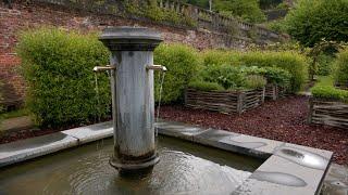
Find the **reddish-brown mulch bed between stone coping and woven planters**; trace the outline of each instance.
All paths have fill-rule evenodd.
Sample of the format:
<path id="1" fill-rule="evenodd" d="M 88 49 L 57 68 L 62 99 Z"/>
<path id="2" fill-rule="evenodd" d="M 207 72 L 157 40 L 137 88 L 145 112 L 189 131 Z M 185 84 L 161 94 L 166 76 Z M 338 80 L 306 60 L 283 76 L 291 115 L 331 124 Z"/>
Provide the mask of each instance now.
<path id="1" fill-rule="evenodd" d="M 348 164 L 348 130 L 308 125 L 308 105 L 306 96 L 289 96 L 239 116 L 163 106 L 161 118 L 333 151 L 335 162 Z"/>

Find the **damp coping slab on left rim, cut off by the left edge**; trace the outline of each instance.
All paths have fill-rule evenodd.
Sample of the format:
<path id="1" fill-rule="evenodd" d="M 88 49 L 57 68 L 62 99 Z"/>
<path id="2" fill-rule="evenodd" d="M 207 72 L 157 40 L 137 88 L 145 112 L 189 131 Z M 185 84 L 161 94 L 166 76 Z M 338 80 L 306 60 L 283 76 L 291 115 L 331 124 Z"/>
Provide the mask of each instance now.
<path id="1" fill-rule="evenodd" d="M 58 132 L 0 145 L 0 167 L 76 146 L 77 139 Z"/>

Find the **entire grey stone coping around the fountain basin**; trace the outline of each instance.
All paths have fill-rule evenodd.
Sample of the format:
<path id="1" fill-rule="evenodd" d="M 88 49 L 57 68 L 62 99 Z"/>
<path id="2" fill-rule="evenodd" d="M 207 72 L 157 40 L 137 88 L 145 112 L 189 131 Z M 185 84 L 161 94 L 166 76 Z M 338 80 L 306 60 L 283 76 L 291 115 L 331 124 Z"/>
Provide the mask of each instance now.
<path id="1" fill-rule="evenodd" d="M 181 122 L 156 123 L 160 134 L 175 136 L 265 161 L 232 194 L 319 194 L 333 153 Z M 112 122 L 75 128 L 0 145 L 0 167 L 113 135 Z"/>

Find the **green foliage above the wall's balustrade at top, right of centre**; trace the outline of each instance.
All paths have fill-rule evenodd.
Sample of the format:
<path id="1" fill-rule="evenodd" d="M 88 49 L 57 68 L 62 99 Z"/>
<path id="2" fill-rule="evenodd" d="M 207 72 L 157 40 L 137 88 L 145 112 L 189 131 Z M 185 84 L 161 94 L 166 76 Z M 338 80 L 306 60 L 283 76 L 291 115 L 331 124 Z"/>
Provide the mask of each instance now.
<path id="1" fill-rule="evenodd" d="M 261 11 L 258 0 L 214 0 L 213 9 L 250 23 L 265 21 L 265 15 Z"/>

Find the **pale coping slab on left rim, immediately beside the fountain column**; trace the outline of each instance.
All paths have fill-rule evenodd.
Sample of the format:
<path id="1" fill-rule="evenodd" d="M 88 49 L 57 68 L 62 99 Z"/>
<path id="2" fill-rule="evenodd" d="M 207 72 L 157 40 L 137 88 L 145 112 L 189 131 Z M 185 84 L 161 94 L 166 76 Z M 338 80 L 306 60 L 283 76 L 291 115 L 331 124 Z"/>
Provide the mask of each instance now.
<path id="1" fill-rule="evenodd" d="M 112 121 L 70 129 L 62 133 L 74 136 L 78 140 L 78 144 L 94 142 L 100 139 L 113 136 Z"/>

